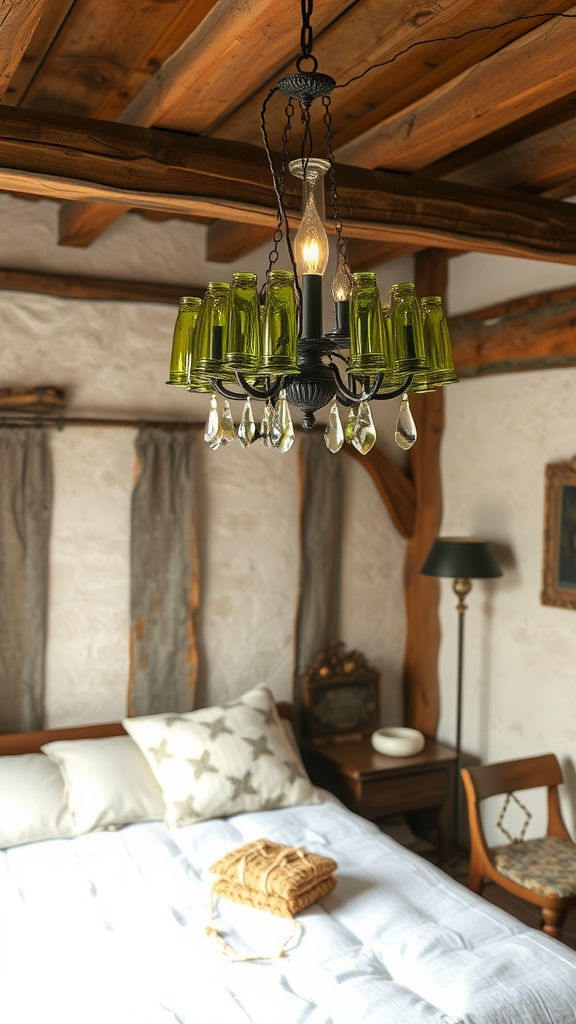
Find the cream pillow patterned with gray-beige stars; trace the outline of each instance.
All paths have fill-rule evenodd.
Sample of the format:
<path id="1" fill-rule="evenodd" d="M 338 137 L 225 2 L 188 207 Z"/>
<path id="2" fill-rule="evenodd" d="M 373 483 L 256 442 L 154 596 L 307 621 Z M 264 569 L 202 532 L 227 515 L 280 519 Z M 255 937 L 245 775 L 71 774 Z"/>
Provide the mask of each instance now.
<path id="1" fill-rule="evenodd" d="M 321 802 L 265 686 L 213 708 L 122 724 L 162 790 L 168 826 Z"/>

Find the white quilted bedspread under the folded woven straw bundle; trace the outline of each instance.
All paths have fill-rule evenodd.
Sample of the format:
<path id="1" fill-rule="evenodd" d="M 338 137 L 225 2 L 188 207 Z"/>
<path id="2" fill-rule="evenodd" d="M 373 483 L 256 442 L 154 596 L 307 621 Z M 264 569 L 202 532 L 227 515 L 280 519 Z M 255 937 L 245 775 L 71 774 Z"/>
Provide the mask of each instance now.
<path id="1" fill-rule="evenodd" d="M 279 959 L 231 961 L 208 867 L 251 839 L 325 852 L 334 892 Z M 225 900 L 241 954 L 290 923 Z M 332 798 L 168 834 L 129 825 L 0 853 L 2 1024 L 575 1024 L 576 954 Z"/>

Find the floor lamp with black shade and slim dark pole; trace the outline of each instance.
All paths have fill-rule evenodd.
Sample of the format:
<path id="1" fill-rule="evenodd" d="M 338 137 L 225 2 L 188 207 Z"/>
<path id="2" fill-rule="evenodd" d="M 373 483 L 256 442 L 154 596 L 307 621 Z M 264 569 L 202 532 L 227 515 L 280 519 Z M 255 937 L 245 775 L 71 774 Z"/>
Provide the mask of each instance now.
<path id="1" fill-rule="evenodd" d="M 488 541 L 476 537 L 439 537 L 422 565 L 422 575 L 451 577 L 452 589 L 458 598 L 458 675 L 456 689 L 456 777 L 454 779 L 454 848 L 458 849 L 460 816 L 460 768 L 462 726 L 462 670 L 464 654 L 465 598 L 472 580 L 489 580 L 502 575 L 496 555 Z"/>

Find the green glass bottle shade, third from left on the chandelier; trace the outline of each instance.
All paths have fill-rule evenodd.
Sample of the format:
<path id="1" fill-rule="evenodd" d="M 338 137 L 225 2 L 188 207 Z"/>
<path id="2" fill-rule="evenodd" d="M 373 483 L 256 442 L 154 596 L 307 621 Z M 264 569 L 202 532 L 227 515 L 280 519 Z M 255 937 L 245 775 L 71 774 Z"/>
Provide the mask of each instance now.
<path id="1" fill-rule="evenodd" d="M 262 361 L 260 308 L 255 273 L 232 279 L 224 362 L 242 374 L 257 374 Z"/>

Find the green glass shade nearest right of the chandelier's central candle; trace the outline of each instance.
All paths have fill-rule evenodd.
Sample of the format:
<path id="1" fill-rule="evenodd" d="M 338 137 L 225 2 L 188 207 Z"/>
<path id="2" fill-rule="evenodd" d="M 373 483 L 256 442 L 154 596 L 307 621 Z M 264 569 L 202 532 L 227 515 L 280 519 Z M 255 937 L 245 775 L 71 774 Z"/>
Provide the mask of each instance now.
<path id="1" fill-rule="evenodd" d="M 367 270 L 352 275 L 349 337 L 351 373 L 378 374 L 389 368 L 376 274 Z"/>

